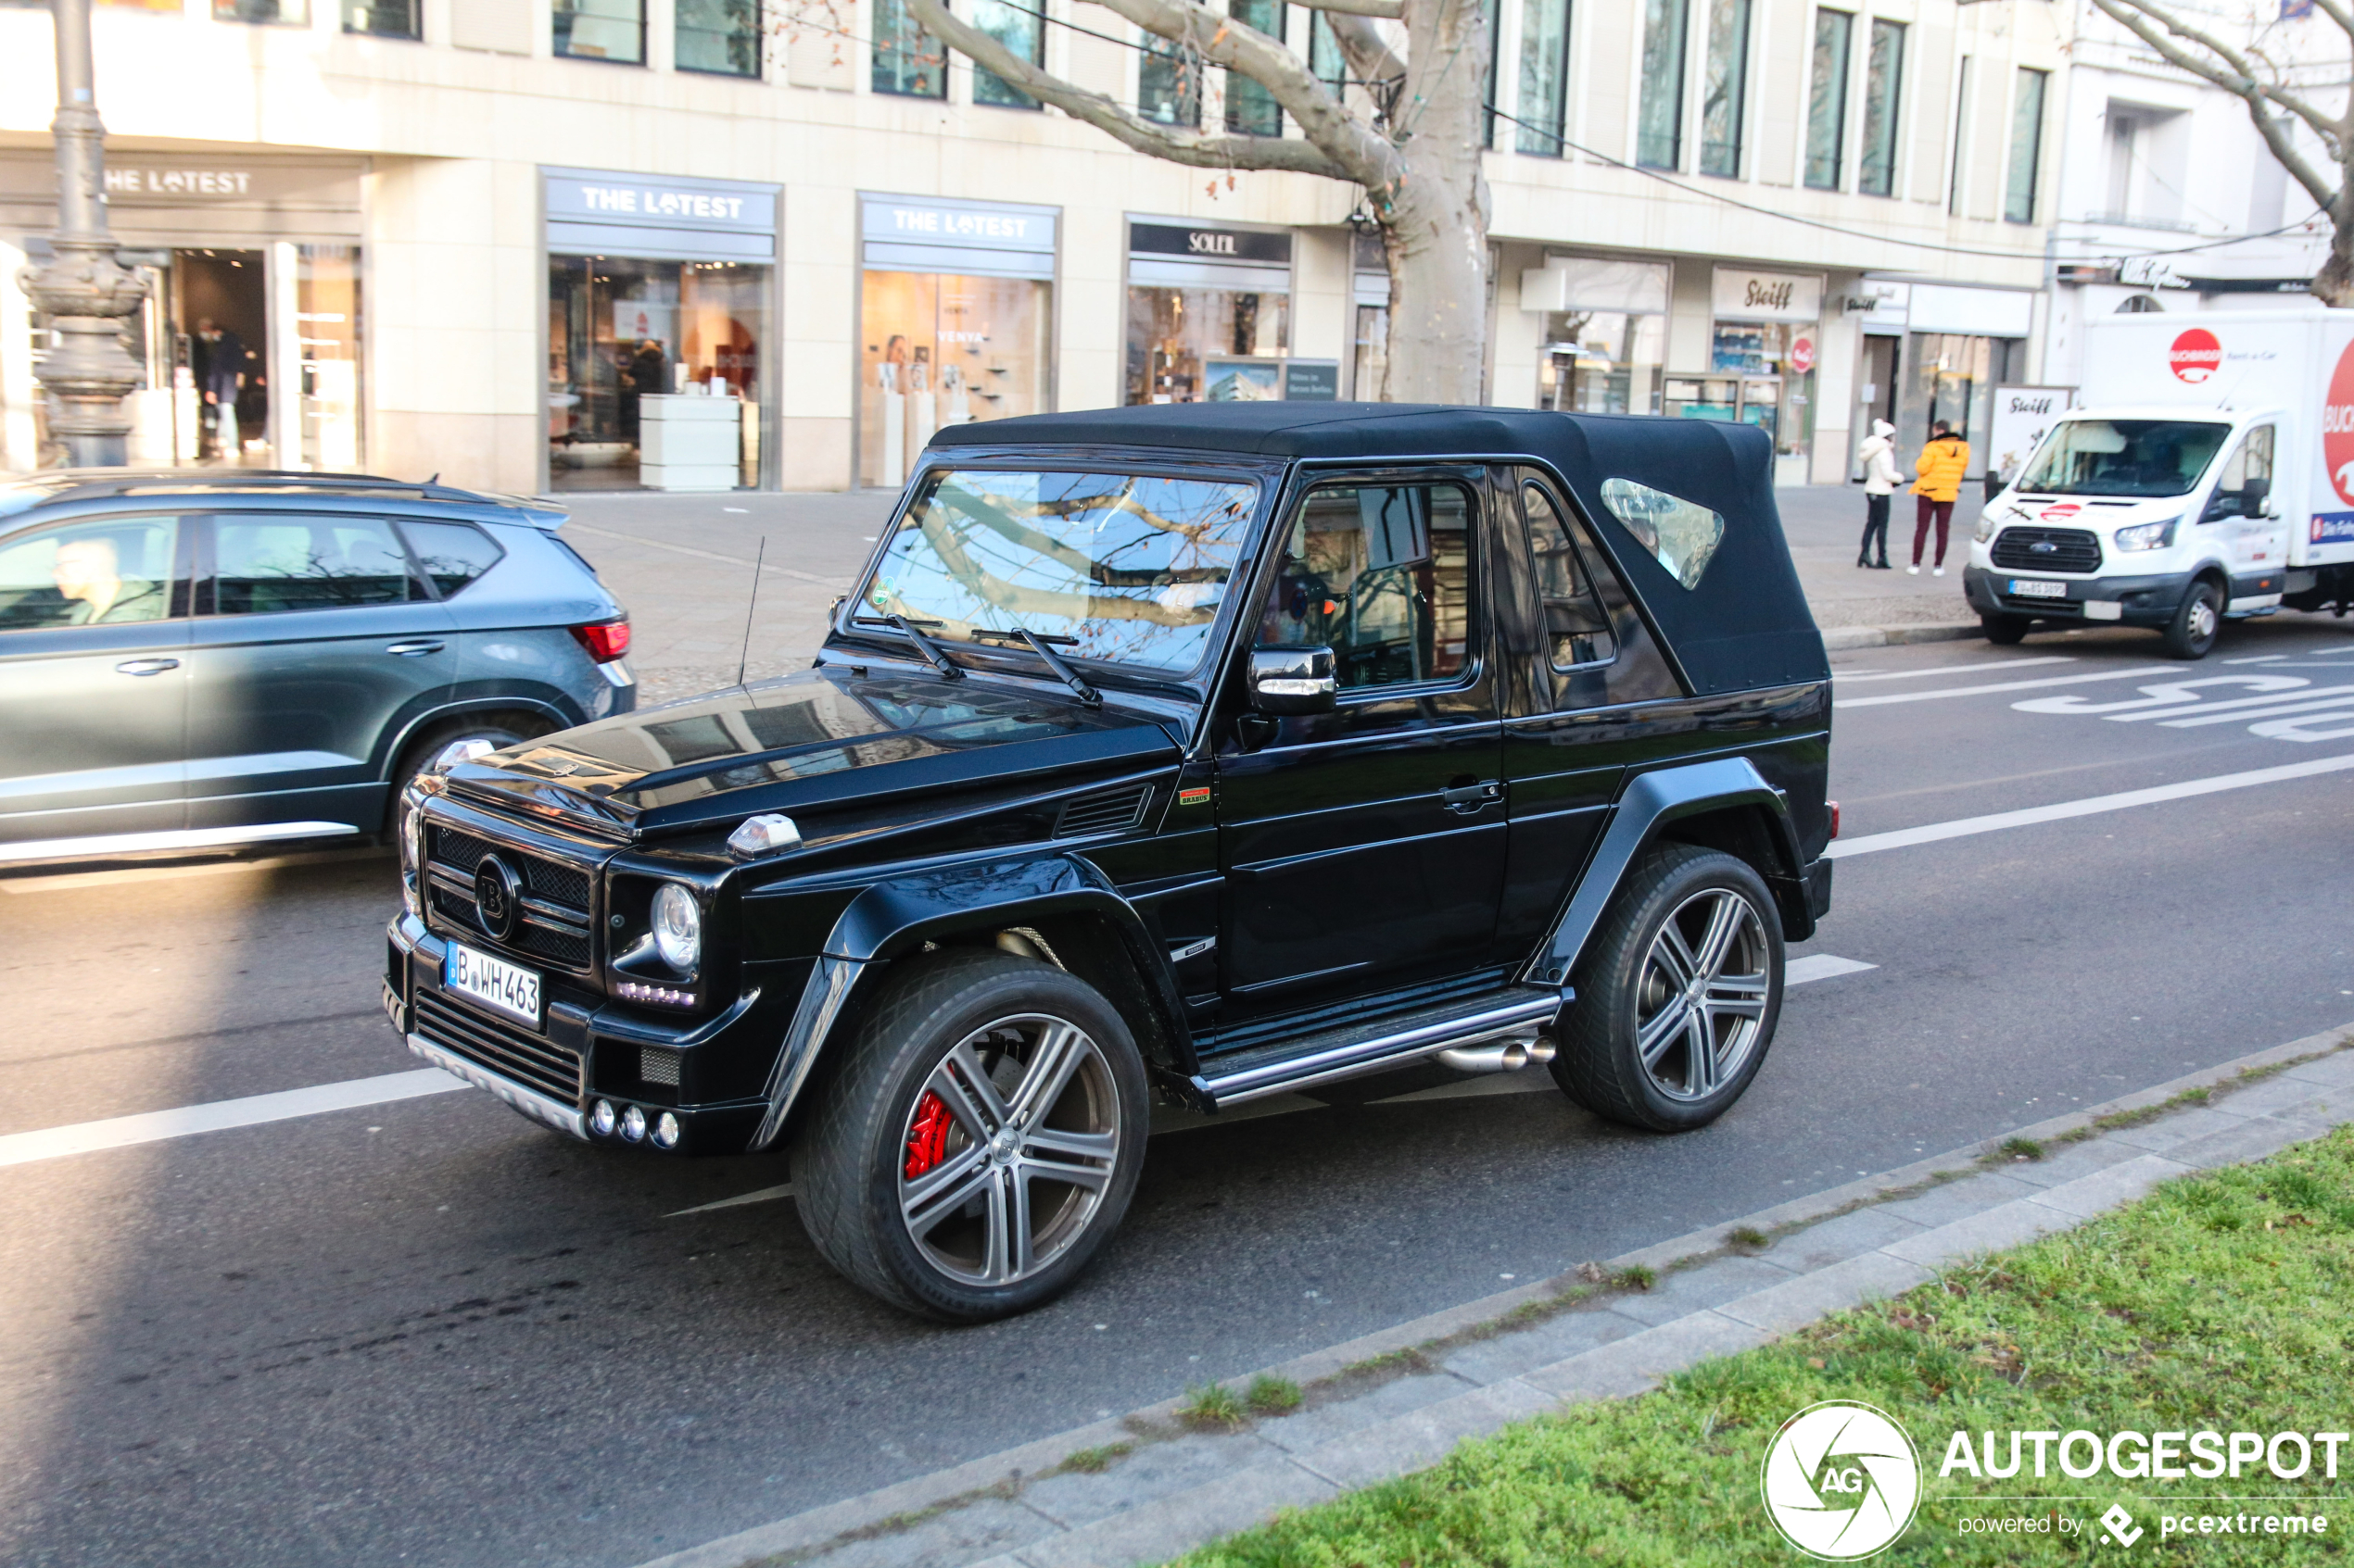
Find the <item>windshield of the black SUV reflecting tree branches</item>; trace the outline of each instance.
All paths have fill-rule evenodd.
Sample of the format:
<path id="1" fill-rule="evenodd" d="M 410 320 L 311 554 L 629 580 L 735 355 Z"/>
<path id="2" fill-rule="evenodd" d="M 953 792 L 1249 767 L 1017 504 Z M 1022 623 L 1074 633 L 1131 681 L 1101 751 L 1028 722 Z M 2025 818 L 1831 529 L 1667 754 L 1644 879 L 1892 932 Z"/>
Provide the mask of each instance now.
<path id="1" fill-rule="evenodd" d="M 986 632 L 1026 628 L 1066 658 L 1191 670 L 1257 498 L 1248 480 L 937 473 L 857 614 L 906 616 L 935 642 L 1008 646 Z"/>

